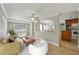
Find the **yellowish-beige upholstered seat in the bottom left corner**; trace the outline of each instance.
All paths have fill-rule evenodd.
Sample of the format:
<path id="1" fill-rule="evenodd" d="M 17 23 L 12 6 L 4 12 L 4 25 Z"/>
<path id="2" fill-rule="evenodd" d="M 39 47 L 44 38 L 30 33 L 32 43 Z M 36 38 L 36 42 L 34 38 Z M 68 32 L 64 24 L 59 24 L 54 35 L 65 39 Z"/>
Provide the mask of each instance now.
<path id="1" fill-rule="evenodd" d="M 19 42 L 12 42 L 2 44 L 0 43 L 0 55 L 17 55 L 20 53 L 20 43 Z"/>

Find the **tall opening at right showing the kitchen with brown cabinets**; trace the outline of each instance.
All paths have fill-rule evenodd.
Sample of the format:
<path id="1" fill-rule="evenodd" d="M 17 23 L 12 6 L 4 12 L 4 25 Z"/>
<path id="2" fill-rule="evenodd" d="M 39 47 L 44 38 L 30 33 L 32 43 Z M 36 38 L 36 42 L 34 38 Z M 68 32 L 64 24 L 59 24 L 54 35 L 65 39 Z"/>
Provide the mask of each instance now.
<path id="1" fill-rule="evenodd" d="M 76 15 L 76 16 L 74 16 Z M 61 39 L 60 46 L 68 49 L 78 49 L 78 11 L 61 13 L 60 28 Z"/>

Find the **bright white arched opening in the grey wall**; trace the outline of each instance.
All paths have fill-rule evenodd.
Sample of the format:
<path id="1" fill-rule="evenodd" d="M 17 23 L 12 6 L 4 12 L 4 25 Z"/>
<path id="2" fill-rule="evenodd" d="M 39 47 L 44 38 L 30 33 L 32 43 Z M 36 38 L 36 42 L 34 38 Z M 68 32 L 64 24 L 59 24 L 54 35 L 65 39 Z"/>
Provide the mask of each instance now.
<path id="1" fill-rule="evenodd" d="M 55 23 L 49 20 L 43 20 L 36 24 L 37 31 L 54 31 Z"/>

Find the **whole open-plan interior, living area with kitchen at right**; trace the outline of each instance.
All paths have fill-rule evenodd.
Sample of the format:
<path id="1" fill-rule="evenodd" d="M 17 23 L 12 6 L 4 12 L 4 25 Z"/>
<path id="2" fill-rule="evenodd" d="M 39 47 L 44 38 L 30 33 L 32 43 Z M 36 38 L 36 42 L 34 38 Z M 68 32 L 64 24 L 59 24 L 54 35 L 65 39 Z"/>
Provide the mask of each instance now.
<path id="1" fill-rule="evenodd" d="M 0 3 L 0 55 L 79 55 L 79 3 Z"/>

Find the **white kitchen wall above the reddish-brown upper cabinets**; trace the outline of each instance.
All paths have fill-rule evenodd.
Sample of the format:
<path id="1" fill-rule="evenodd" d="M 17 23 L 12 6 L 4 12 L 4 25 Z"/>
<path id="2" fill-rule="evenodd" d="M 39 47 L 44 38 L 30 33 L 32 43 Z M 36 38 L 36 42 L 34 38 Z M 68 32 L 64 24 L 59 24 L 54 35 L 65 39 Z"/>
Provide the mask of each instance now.
<path id="1" fill-rule="evenodd" d="M 61 13 L 60 15 L 60 23 L 65 23 L 67 19 L 78 18 L 78 11 Z"/>

